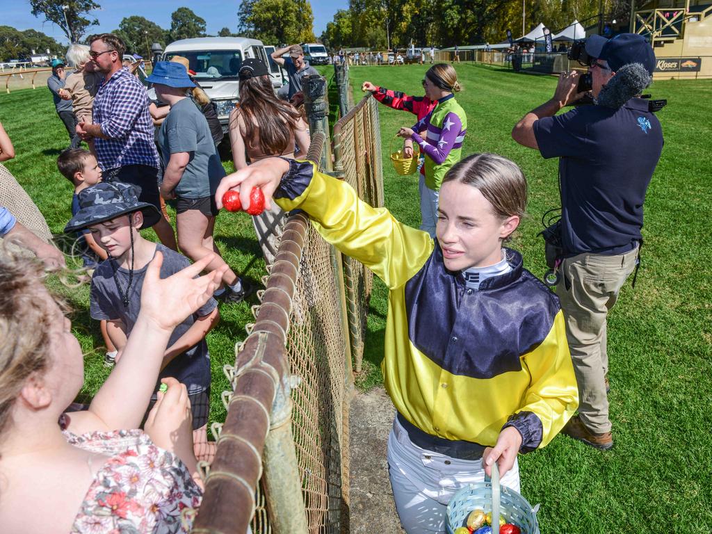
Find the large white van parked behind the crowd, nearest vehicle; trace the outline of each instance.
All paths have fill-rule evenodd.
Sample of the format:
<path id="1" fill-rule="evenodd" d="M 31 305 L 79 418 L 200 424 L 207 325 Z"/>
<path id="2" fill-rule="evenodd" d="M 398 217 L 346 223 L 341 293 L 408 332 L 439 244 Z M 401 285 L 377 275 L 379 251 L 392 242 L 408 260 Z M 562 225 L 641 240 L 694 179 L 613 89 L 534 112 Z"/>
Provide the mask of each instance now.
<path id="1" fill-rule="evenodd" d="M 230 111 L 239 101 L 238 72 L 247 58 L 261 59 L 268 64 L 262 41 L 245 37 L 199 37 L 170 43 L 163 61 L 173 56 L 188 59 L 195 79 L 215 103 L 220 124 L 227 132 Z"/>

